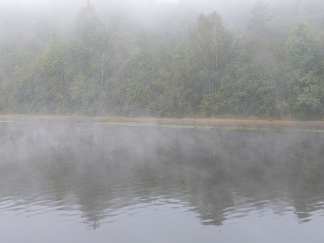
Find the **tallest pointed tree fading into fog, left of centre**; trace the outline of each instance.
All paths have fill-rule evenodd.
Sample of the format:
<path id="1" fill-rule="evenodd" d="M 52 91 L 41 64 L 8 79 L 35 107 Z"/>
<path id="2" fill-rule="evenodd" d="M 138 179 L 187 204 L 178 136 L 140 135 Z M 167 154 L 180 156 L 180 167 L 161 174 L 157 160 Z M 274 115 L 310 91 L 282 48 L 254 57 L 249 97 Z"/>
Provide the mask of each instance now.
<path id="1" fill-rule="evenodd" d="M 110 41 L 105 26 L 90 2 L 79 10 L 71 41 L 71 99 L 74 112 L 96 114 L 106 87 Z"/>

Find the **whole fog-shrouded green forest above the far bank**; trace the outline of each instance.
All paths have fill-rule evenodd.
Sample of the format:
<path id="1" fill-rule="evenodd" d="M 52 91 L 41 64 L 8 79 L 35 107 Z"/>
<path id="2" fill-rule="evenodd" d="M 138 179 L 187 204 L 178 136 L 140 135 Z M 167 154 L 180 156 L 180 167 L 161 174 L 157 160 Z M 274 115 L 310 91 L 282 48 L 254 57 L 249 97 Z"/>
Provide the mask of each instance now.
<path id="1" fill-rule="evenodd" d="M 137 2 L 0 2 L 0 113 L 323 119 L 324 1 Z"/>

